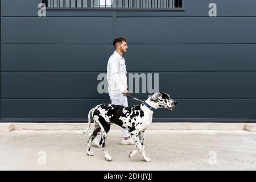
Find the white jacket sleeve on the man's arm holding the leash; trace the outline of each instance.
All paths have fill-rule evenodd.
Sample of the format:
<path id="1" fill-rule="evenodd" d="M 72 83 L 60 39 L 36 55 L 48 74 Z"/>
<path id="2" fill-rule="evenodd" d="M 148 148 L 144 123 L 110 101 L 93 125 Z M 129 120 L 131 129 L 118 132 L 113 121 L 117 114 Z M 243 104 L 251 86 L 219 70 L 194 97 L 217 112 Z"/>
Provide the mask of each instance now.
<path id="1" fill-rule="evenodd" d="M 121 85 L 121 78 L 118 75 L 119 72 L 119 61 L 118 59 L 115 59 L 114 57 L 112 57 L 110 59 L 110 82 L 112 82 L 112 84 L 114 84 L 117 89 L 119 90 L 119 92 L 123 92 L 126 90 L 125 86 Z"/>

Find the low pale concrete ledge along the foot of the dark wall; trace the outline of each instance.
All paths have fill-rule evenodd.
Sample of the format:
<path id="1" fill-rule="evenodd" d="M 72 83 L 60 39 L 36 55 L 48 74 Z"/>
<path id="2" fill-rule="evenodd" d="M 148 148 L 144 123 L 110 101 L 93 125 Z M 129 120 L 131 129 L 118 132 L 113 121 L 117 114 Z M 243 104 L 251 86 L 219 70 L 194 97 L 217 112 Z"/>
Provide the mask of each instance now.
<path id="1" fill-rule="evenodd" d="M 88 123 L 0 123 L 0 132 L 13 130 L 85 130 Z M 91 123 L 90 129 L 94 128 Z M 113 124 L 110 130 L 121 130 Z M 203 123 L 203 122 L 157 122 L 151 123 L 148 130 L 246 130 L 256 132 L 256 123 Z"/>

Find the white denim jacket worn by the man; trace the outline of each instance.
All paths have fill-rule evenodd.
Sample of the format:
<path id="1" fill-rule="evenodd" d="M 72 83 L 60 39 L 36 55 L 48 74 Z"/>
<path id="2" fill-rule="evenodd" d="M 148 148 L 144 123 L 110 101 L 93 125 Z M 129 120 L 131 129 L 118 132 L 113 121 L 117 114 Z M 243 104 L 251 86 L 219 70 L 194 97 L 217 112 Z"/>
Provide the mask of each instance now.
<path id="1" fill-rule="evenodd" d="M 125 59 L 114 51 L 109 57 L 107 67 L 108 90 L 123 92 L 128 88 Z"/>

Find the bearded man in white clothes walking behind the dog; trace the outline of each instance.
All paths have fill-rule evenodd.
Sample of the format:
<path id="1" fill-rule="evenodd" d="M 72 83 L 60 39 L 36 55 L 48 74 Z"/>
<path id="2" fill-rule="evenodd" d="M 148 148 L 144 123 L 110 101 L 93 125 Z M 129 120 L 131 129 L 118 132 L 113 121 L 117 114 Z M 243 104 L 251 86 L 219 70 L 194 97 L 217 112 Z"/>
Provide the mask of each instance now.
<path id="1" fill-rule="evenodd" d="M 125 38 L 114 39 L 113 46 L 115 51 L 113 55 L 109 57 L 107 66 L 107 80 L 108 80 L 108 91 L 111 104 L 128 106 L 126 94 L 129 93 L 127 90 L 127 72 L 125 59 L 122 57 L 127 51 L 127 43 Z M 134 144 L 130 134 L 127 130 L 122 129 L 123 138 L 121 144 Z M 100 146 L 101 134 L 94 139 L 94 144 Z"/>

